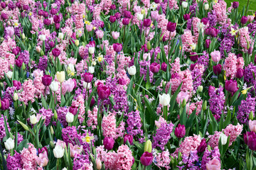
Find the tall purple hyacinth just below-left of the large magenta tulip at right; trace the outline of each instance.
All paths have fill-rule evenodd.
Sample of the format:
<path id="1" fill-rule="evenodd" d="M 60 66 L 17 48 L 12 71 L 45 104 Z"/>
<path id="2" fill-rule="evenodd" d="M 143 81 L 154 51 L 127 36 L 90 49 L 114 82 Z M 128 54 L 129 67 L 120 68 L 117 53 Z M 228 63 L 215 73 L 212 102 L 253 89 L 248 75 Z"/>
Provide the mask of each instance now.
<path id="1" fill-rule="evenodd" d="M 210 111 L 212 111 L 213 116 L 216 120 L 220 118 L 222 111 L 224 109 L 225 103 L 225 94 L 223 92 L 223 87 L 219 87 L 215 89 L 213 93 L 210 94 L 209 104 L 210 104 Z"/>

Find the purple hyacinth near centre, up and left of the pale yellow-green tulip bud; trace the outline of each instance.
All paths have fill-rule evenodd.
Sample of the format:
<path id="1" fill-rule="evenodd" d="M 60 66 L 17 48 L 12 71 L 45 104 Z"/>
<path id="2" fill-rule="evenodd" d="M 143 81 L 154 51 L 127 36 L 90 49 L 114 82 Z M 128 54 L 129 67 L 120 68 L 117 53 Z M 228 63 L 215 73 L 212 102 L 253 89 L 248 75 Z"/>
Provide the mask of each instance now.
<path id="1" fill-rule="evenodd" d="M 143 130 L 142 128 L 142 123 L 141 123 L 141 118 L 139 115 L 139 111 L 132 111 L 131 113 L 128 113 L 127 115 L 127 132 L 129 135 L 136 136 L 140 135 L 141 137 L 139 138 L 139 142 L 144 141 L 144 135 L 143 135 Z"/>

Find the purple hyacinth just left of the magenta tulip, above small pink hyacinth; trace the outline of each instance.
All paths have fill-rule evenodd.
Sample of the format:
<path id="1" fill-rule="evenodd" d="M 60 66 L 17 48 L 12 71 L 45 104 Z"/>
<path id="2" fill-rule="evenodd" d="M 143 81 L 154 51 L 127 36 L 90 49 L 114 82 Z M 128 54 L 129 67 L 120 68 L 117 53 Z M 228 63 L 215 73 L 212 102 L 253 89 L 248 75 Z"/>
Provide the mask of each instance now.
<path id="1" fill-rule="evenodd" d="M 167 144 L 169 139 L 171 138 L 171 132 L 174 128 L 174 124 L 172 123 L 163 123 L 161 127 L 156 130 L 156 135 L 153 137 L 153 147 L 160 147 L 161 150 L 164 150 L 164 146 Z"/>

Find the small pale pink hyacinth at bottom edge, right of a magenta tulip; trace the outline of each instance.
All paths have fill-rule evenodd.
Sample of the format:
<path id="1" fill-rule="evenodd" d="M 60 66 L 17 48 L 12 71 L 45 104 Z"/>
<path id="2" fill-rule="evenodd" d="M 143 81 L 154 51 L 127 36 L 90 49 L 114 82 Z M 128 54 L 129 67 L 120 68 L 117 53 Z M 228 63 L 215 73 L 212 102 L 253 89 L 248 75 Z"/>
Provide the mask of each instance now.
<path id="1" fill-rule="evenodd" d="M 156 162 L 154 162 L 154 164 L 161 168 L 164 169 L 171 169 L 171 167 L 169 166 L 171 159 L 170 159 L 170 153 L 169 151 L 163 151 L 161 153 L 157 153 L 155 156 L 155 160 Z"/>

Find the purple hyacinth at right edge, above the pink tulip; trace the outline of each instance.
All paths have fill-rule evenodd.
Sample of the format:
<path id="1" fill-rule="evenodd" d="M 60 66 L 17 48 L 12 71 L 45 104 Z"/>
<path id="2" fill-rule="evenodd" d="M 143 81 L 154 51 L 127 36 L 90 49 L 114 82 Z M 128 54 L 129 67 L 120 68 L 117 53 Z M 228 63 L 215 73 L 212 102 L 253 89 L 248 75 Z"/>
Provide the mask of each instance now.
<path id="1" fill-rule="evenodd" d="M 238 120 L 242 124 L 247 124 L 249 120 L 250 112 L 252 111 L 253 116 L 255 115 L 255 98 L 250 95 L 247 96 L 246 101 L 242 100 L 241 105 L 238 106 Z"/>

